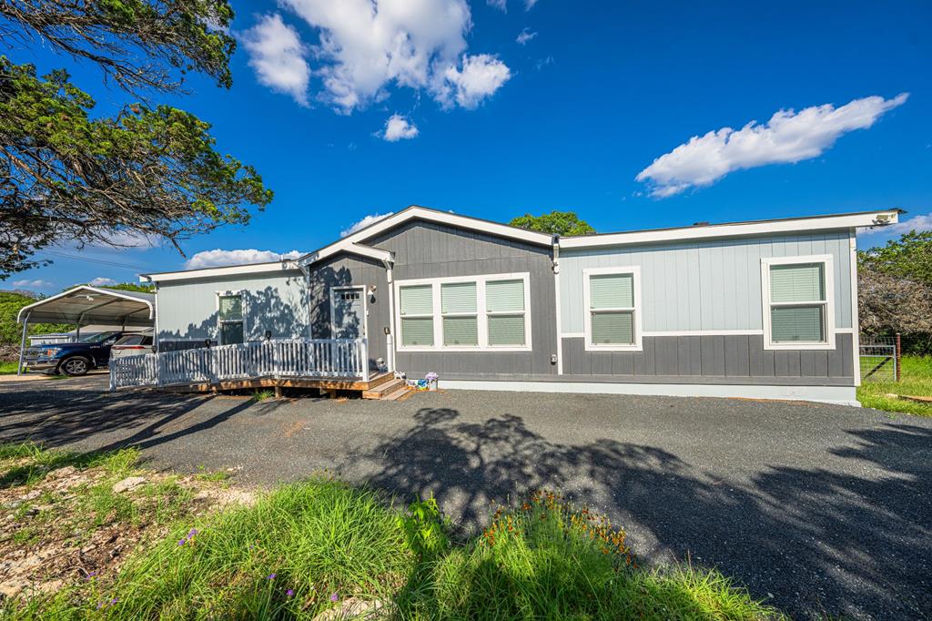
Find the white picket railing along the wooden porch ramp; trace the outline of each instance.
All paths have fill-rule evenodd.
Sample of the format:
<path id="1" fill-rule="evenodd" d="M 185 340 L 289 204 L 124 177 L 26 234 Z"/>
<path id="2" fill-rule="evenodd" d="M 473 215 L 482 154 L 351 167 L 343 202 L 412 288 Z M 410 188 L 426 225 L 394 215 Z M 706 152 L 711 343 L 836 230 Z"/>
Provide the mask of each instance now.
<path id="1" fill-rule="evenodd" d="M 365 338 L 265 340 L 110 359 L 110 390 L 229 380 L 349 378 L 369 380 Z"/>

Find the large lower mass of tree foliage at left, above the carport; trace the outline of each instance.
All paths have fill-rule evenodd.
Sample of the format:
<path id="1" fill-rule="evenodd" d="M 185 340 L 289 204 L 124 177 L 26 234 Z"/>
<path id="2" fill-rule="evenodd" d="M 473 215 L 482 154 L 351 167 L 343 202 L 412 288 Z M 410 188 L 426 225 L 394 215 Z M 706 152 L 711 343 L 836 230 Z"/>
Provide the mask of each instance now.
<path id="1" fill-rule="evenodd" d="M 249 221 L 272 198 L 250 166 L 214 150 L 210 125 L 170 105 L 91 117 L 65 71 L 0 57 L 0 278 L 62 240 L 136 232 L 177 245 Z"/>

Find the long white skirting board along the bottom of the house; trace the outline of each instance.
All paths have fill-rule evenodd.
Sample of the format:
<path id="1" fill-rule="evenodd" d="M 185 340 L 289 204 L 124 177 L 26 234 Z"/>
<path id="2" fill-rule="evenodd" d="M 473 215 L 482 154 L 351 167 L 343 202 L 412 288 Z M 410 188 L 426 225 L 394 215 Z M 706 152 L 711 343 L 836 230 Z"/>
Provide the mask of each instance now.
<path id="1" fill-rule="evenodd" d="M 852 386 L 757 386 L 724 384 L 624 384 L 584 381 L 444 380 L 444 390 L 506 391 L 513 393 L 637 394 L 644 396 L 719 397 L 815 401 L 860 407 Z"/>

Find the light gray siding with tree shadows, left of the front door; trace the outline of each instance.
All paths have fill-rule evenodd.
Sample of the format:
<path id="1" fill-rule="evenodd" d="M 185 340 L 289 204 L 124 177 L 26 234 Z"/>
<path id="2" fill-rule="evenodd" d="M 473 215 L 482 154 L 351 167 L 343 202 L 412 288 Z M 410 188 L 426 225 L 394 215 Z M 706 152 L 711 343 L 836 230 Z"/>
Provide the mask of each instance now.
<path id="1" fill-rule="evenodd" d="M 160 283 L 156 294 L 161 351 L 217 340 L 217 292 L 241 291 L 246 340 L 307 338 L 308 289 L 298 271 Z"/>

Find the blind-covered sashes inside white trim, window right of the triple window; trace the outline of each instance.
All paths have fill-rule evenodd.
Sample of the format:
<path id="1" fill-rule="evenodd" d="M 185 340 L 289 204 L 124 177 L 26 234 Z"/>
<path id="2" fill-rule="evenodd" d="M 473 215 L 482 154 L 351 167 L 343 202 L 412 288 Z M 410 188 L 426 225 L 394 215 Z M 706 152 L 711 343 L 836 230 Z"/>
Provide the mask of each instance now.
<path id="1" fill-rule="evenodd" d="M 635 344 L 633 273 L 589 274 L 589 344 Z"/>

